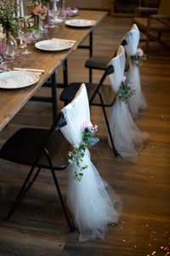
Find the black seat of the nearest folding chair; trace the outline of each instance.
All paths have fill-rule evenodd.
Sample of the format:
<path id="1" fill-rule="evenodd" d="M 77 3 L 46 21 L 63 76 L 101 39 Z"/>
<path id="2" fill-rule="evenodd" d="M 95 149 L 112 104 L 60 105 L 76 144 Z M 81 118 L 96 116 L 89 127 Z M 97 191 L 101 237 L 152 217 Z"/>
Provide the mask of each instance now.
<path id="1" fill-rule="evenodd" d="M 32 166 L 37 154 L 42 148 L 44 139 L 49 130 L 36 128 L 22 128 L 4 143 L 0 149 L 0 157 L 26 166 Z M 63 170 L 68 166 L 68 152 L 70 144 L 65 140 L 60 131 L 56 131 L 47 144 L 48 152 L 54 165 L 54 170 Z M 49 168 L 47 157 L 44 153 L 36 166 Z"/>

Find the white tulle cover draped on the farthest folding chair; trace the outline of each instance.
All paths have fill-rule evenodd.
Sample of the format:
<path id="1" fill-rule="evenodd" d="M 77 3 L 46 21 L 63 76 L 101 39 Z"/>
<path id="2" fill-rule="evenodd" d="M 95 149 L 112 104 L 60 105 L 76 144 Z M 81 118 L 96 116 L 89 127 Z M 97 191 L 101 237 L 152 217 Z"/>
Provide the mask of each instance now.
<path id="1" fill-rule="evenodd" d="M 138 26 L 133 24 L 130 31 L 125 36 L 127 44 L 124 46 L 126 49 L 127 60 L 129 61 L 129 68 L 126 76 L 129 82 L 133 82 L 133 89 L 136 90 L 135 96 L 129 100 L 129 110 L 133 118 L 137 118 L 139 115 L 139 109 L 147 108 L 147 103 L 141 90 L 139 67 L 133 65 L 131 56 L 136 55 L 136 51 L 139 46 L 140 32 Z"/>

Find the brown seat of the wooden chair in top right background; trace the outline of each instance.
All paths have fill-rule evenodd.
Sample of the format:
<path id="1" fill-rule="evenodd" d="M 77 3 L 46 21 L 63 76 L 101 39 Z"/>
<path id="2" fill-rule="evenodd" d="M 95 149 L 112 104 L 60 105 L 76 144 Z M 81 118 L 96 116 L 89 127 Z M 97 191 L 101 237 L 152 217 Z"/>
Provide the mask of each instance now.
<path id="1" fill-rule="evenodd" d="M 138 24 L 139 29 L 143 32 L 145 32 L 146 27 L 147 27 L 147 18 L 140 18 L 140 17 L 135 17 L 133 19 L 133 22 Z M 158 20 L 152 20 L 150 24 L 150 31 L 152 32 L 168 32 L 170 31 L 170 26 L 166 26 L 161 21 Z"/>

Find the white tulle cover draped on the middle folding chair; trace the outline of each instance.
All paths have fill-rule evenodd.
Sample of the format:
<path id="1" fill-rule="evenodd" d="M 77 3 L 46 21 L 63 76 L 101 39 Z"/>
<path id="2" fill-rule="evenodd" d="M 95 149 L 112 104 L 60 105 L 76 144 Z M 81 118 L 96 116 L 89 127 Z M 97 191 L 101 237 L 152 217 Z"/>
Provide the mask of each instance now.
<path id="1" fill-rule="evenodd" d="M 125 50 L 122 45 L 119 46 L 116 57 L 110 61 L 109 65 L 114 67 L 114 73 L 111 73 L 109 78 L 112 89 L 117 93 L 122 83 L 125 67 Z M 125 102 L 120 102 L 118 96 L 109 112 L 108 119 L 116 151 L 123 158 L 137 162 L 139 152 L 142 150 L 143 143 L 149 137 L 149 134 L 139 131 L 137 125 L 133 123 L 128 105 Z M 111 146 L 110 137 L 108 139 Z"/>

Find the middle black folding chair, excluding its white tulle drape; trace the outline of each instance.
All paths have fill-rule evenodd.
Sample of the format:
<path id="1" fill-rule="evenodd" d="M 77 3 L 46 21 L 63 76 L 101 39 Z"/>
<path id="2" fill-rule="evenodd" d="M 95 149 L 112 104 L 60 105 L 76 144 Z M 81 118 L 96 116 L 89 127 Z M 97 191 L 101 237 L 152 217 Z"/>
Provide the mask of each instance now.
<path id="1" fill-rule="evenodd" d="M 107 119 L 107 114 L 105 112 L 105 108 L 111 108 L 111 106 L 113 106 L 116 97 L 115 97 L 115 94 L 113 93 L 113 90 L 111 89 L 111 85 L 103 84 L 105 81 L 105 78 L 111 73 L 114 73 L 114 67 L 112 65 L 108 66 L 105 69 L 105 73 L 100 79 L 99 84 L 86 84 L 86 87 L 88 90 L 89 105 L 101 107 L 103 110 L 107 130 L 111 138 L 111 147 L 113 149 L 113 153 L 116 156 L 117 153 L 113 143 L 113 138 L 111 136 L 111 129 Z M 71 102 L 74 96 L 76 95 L 77 90 L 80 88 L 81 84 L 82 83 L 68 84 L 65 87 L 65 89 L 61 92 L 60 101 L 65 102 L 65 105 Z"/>

